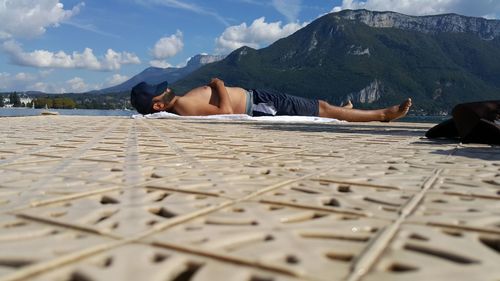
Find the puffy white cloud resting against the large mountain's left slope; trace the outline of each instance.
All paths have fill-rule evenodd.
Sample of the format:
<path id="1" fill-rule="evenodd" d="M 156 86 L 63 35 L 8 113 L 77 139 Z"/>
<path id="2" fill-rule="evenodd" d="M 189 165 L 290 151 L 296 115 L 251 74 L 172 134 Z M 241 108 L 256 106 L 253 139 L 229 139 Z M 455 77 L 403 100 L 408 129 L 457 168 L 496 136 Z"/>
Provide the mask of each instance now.
<path id="1" fill-rule="evenodd" d="M 286 37 L 306 25 L 307 23 L 289 23 L 282 26 L 281 21 L 267 23 L 266 19 L 261 17 L 254 20 L 250 26 L 242 23 L 226 28 L 215 40 L 216 51 L 224 53 L 242 46 L 259 48 Z"/>

